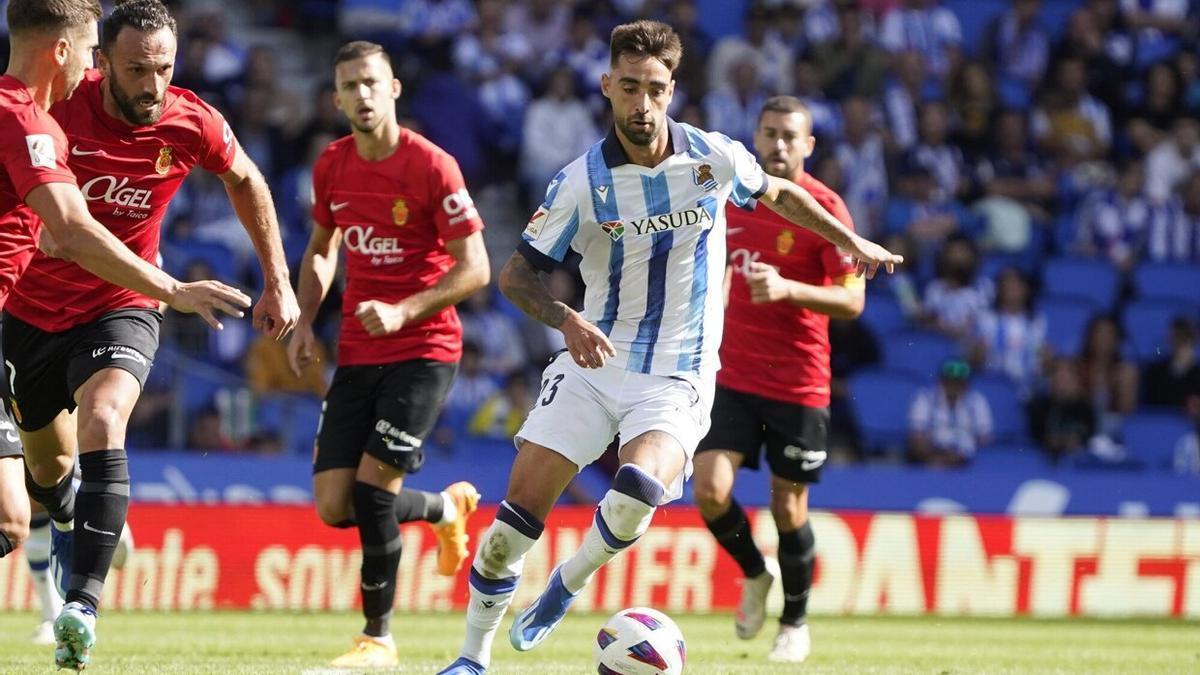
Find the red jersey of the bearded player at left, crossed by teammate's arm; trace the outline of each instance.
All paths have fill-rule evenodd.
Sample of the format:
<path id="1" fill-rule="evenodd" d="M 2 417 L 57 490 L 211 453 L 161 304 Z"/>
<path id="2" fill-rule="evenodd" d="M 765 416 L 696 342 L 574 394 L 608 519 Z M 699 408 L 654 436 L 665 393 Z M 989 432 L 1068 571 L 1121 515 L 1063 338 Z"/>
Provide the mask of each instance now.
<path id="1" fill-rule="evenodd" d="M 50 108 L 71 142 L 67 161 L 92 217 L 136 255 L 154 263 L 167 204 L 199 165 L 233 166 L 238 142 L 216 109 L 196 94 L 167 89 L 162 118 L 130 126 L 104 112 L 100 71 Z M 82 267 L 38 252 L 8 303 L 25 323 L 58 333 L 119 309 L 157 307 L 148 295 L 114 286 Z"/>

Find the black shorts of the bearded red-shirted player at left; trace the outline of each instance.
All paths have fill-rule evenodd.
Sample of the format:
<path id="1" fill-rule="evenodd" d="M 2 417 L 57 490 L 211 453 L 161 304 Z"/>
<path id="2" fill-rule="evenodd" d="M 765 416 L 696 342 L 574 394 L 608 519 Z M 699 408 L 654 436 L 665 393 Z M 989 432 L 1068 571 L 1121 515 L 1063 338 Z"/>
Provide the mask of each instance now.
<path id="1" fill-rule="evenodd" d="M 144 386 L 158 351 L 162 315 L 156 310 L 118 310 L 91 323 L 47 333 L 6 313 L 5 380 L 17 425 L 37 431 L 61 411 L 73 412 L 74 393 L 106 368 L 128 371 Z"/>

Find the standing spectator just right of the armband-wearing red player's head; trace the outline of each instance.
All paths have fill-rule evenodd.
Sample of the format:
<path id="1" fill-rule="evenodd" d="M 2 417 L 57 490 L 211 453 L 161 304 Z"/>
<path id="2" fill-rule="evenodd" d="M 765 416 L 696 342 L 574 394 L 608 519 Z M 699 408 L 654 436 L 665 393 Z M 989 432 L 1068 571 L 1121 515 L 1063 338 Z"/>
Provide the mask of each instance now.
<path id="1" fill-rule="evenodd" d="M 841 104 L 842 141 L 833 149 L 845 187 L 840 192 L 854 228 L 869 239 L 880 231 L 888 201 L 888 168 L 883 136 L 876 130 L 870 101 L 857 96 Z"/>

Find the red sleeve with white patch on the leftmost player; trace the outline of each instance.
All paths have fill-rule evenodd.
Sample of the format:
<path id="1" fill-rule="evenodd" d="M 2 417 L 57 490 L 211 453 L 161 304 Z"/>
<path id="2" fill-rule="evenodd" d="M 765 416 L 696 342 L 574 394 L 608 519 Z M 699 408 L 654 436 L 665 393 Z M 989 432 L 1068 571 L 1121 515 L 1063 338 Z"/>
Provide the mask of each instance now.
<path id="1" fill-rule="evenodd" d="M 74 184 L 67 138 L 49 113 L 29 106 L 0 119 L 0 162 L 22 199 L 38 185 Z"/>

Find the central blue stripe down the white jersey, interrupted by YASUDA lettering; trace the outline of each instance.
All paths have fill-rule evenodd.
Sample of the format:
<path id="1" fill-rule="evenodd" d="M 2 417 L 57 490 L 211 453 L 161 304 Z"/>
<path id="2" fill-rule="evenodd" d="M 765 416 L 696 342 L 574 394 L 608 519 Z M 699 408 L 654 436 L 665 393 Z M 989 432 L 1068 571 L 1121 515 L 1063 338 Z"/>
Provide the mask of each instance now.
<path id="1" fill-rule="evenodd" d="M 671 213 L 671 186 L 665 172 L 642 177 L 642 196 L 646 198 L 646 215 L 658 216 Z M 667 263 L 674 246 L 674 232 L 655 232 L 650 246 L 648 283 L 646 289 L 646 315 L 637 324 L 637 338 L 629 353 L 629 369 L 649 372 L 654 363 L 654 346 L 662 328 L 662 311 L 667 299 Z"/>

